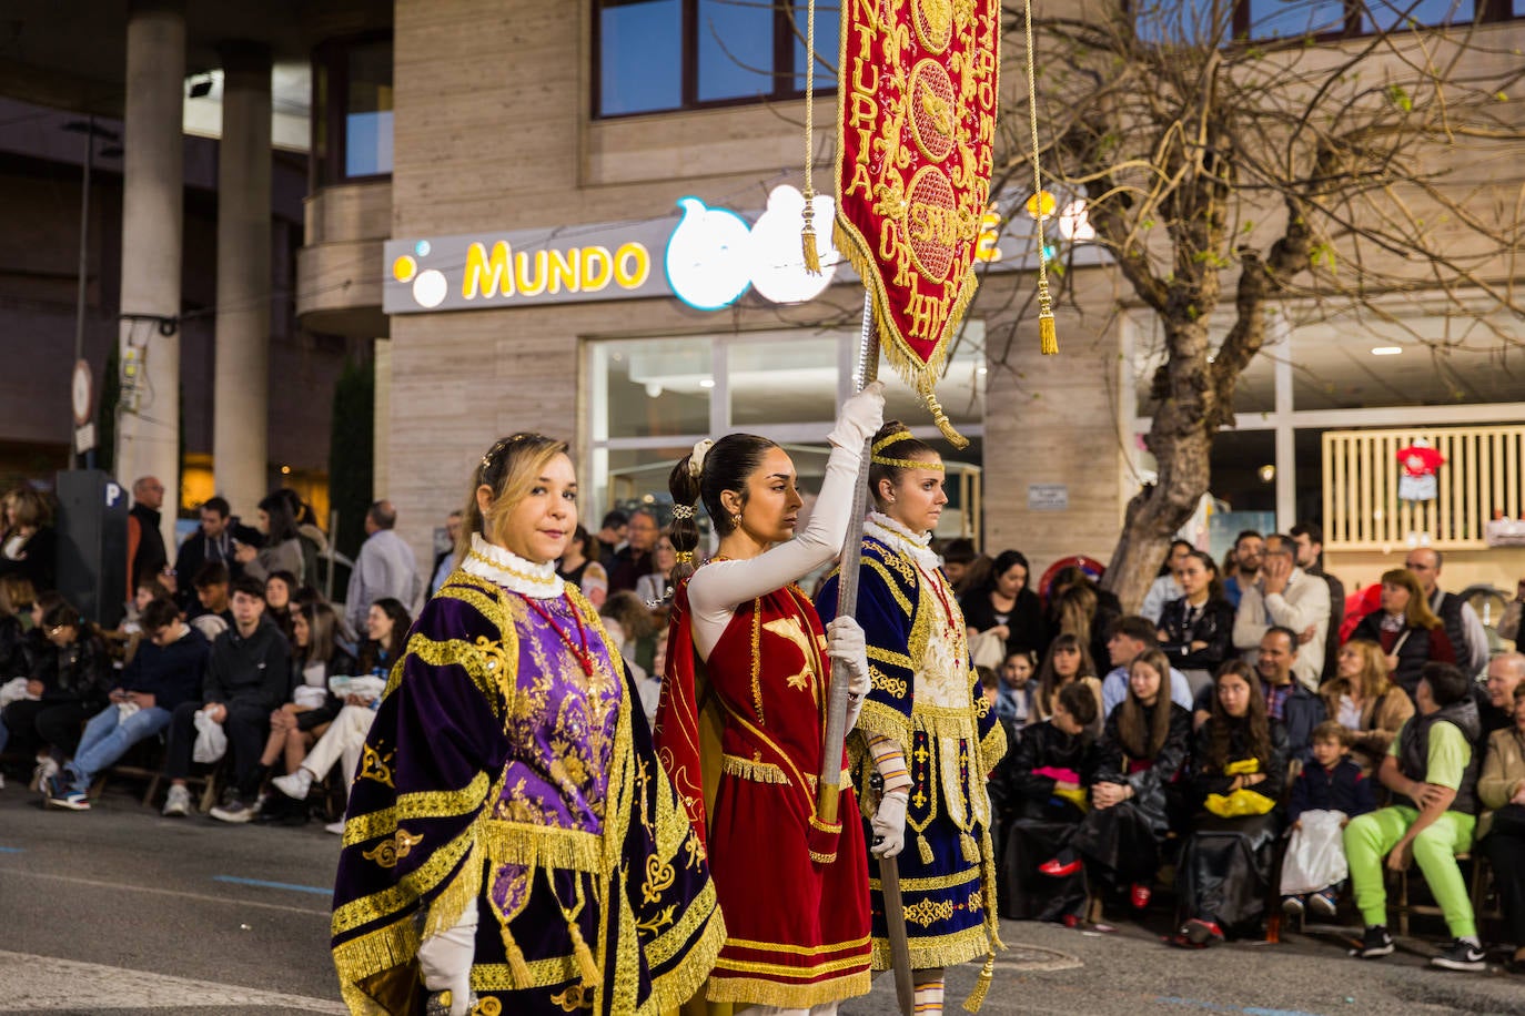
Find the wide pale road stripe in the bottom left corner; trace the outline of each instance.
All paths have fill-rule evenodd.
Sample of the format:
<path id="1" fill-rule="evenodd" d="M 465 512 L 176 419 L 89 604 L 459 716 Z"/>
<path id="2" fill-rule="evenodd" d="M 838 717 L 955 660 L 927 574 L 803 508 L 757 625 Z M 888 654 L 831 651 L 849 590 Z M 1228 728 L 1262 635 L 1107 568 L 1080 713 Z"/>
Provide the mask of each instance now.
<path id="1" fill-rule="evenodd" d="M 195 1008 L 267 1005 L 302 1013 L 345 1016 L 343 1002 L 305 995 L 262 992 L 239 984 L 192 981 L 151 970 L 110 967 L 0 951 L 0 993 L 6 1011 L 72 1010 L 105 1013 L 122 1008 Z"/>

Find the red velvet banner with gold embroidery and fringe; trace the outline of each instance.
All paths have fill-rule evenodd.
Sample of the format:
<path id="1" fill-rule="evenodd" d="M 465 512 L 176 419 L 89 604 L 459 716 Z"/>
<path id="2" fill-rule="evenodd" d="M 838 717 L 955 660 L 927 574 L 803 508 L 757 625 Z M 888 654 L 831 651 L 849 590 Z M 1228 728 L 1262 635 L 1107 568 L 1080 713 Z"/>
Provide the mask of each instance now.
<path id="1" fill-rule="evenodd" d="M 843 0 L 842 20 L 836 247 L 874 294 L 884 356 L 952 436 L 933 388 L 974 296 L 1000 3 Z"/>

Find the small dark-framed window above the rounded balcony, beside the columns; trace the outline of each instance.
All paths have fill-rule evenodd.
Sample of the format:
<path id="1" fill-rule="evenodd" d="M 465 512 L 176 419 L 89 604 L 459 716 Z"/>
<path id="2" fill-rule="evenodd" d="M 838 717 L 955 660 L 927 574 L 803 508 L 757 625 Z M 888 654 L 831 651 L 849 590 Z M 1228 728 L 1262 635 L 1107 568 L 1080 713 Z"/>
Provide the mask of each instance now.
<path id="1" fill-rule="evenodd" d="M 392 172 L 392 38 L 323 43 L 313 58 L 317 186 Z"/>

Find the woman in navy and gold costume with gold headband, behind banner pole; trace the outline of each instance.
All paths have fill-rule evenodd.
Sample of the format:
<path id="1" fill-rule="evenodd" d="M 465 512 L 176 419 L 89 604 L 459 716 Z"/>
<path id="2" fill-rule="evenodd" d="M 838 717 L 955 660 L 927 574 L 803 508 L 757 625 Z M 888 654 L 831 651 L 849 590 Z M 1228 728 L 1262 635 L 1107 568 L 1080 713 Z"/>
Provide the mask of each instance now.
<path id="1" fill-rule="evenodd" d="M 863 529 L 856 611 L 872 685 L 849 745 L 868 838 L 878 839 L 869 858 L 874 969 L 891 966 L 878 858 L 898 856 L 917 1013 L 942 1010 L 944 967 L 985 957 L 965 1002 L 978 1008 L 1000 946 L 985 780 L 1006 734 L 981 693 L 964 615 L 929 547 L 947 504 L 942 475 L 938 452 L 903 423 L 875 434 L 869 487 L 878 510 Z M 833 576 L 817 597 L 820 617 L 834 617 L 836 605 Z M 871 789 L 875 774 L 881 791 Z"/>

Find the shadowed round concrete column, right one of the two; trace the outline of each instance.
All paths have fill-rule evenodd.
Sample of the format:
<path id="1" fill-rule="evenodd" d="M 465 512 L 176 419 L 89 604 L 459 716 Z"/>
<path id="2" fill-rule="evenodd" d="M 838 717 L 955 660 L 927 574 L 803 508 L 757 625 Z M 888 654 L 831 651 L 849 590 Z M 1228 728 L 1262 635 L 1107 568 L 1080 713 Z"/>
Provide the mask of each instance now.
<path id="1" fill-rule="evenodd" d="M 230 43 L 221 55 L 212 463 L 247 519 L 270 492 L 270 50 Z"/>

